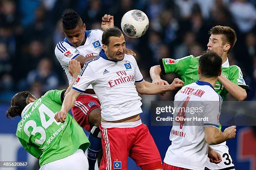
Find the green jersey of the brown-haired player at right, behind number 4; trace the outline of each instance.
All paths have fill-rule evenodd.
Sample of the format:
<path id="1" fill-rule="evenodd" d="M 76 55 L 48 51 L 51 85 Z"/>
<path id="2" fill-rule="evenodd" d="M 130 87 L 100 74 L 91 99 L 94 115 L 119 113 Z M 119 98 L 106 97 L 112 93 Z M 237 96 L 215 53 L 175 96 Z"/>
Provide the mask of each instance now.
<path id="1" fill-rule="evenodd" d="M 163 74 L 175 73 L 182 78 L 184 85 L 188 85 L 199 79 L 198 60 L 199 57 L 189 55 L 177 60 L 173 60 L 171 58 L 163 58 L 159 60 L 159 64 Z M 231 82 L 246 89 L 246 91 L 250 90 L 248 85 L 246 85 L 246 82 L 243 80 L 241 69 L 236 65 L 229 65 L 228 58 L 222 65 L 221 74 Z M 216 92 L 218 92 L 223 100 L 226 99 L 228 91 L 219 82 L 219 80 L 216 82 L 214 89 Z"/>

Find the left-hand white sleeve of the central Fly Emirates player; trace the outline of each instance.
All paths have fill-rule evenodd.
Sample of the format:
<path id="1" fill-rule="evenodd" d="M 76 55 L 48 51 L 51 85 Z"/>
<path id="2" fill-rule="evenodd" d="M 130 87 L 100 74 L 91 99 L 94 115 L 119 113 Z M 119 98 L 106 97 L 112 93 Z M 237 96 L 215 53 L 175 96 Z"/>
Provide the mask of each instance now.
<path id="1" fill-rule="evenodd" d="M 80 74 L 77 76 L 77 80 L 74 82 L 72 87 L 73 90 L 77 92 L 85 92 L 87 87 L 96 81 L 95 73 L 92 70 L 92 67 L 88 65 L 91 61 L 88 61 L 84 64 L 83 69 Z"/>

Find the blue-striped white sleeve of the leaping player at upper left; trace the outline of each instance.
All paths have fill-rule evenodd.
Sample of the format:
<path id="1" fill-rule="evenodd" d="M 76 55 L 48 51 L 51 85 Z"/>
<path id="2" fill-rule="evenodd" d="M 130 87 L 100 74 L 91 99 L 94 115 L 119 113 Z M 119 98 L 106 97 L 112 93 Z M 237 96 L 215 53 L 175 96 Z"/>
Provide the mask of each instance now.
<path id="1" fill-rule="evenodd" d="M 75 59 L 80 54 L 67 42 L 61 41 L 55 47 L 55 55 L 64 68 L 69 66 L 69 60 Z"/>

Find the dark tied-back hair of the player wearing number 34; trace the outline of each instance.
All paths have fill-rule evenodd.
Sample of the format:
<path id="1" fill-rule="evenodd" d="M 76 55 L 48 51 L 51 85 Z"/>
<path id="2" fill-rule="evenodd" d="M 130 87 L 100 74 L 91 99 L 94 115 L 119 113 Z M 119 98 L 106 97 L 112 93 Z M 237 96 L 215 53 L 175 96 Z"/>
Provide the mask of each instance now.
<path id="1" fill-rule="evenodd" d="M 21 116 L 22 110 L 28 105 L 27 99 L 29 97 L 33 97 L 31 92 L 22 91 L 16 93 L 11 100 L 11 107 L 6 111 L 6 117 L 12 119 L 12 117 Z"/>

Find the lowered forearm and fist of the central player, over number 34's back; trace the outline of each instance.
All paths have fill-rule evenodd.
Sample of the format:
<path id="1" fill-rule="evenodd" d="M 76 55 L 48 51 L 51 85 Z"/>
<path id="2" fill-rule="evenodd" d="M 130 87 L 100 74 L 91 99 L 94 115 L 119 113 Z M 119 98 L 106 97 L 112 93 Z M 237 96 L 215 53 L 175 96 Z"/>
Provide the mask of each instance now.
<path id="1" fill-rule="evenodd" d="M 64 123 L 67 118 L 67 112 L 71 109 L 76 101 L 77 97 L 80 95 L 80 92 L 75 90 L 70 90 L 70 92 L 65 96 L 62 103 L 61 111 L 55 113 L 55 120 L 57 122 Z"/>

